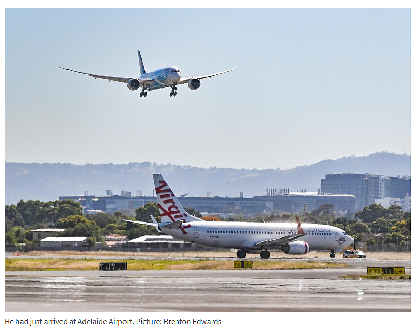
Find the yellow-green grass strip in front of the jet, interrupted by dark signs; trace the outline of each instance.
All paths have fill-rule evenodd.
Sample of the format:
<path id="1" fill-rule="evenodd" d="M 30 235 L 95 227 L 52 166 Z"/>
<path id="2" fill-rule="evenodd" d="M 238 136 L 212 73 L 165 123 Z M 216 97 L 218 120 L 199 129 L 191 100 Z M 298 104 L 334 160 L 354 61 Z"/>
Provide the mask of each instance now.
<path id="1" fill-rule="evenodd" d="M 6 259 L 5 271 L 89 271 L 98 270 L 99 259 Z M 115 260 L 120 262 L 121 260 Z M 234 270 L 234 262 L 231 260 L 139 260 L 127 259 L 128 270 Z M 315 268 L 341 268 L 347 264 L 333 261 L 298 261 L 287 260 L 253 262 L 257 270 L 292 270 L 292 269 L 315 269 Z"/>

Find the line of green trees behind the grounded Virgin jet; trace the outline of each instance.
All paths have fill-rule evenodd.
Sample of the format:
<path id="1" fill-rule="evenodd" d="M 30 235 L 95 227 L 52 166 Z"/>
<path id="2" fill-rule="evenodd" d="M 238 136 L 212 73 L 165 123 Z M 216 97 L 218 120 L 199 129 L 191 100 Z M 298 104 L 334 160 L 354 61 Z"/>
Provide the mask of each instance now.
<path id="1" fill-rule="evenodd" d="M 335 226 L 345 230 L 356 242 L 367 241 L 368 244 L 380 242 L 402 243 L 411 237 L 411 213 L 403 212 L 402 208 L 392 205 L 384 208 L 378 204 L 371 204 L 354 216 L 335 217 L 334 207 L 330 204 L 320 206 L 312 212 L 288 214 L 274 212 L 273 214 L 259 214 L 256 217 L 245 218 L 242 215 L 233 215 L 228 218 L 204 216 L 193 208 L 186 207 L 191 215 L 208 221 L 256 221 L 256 222 L 294 222 L 299 215 L 302 223 L 315 223 Z M 88 244 L 105 242 L 103 236 L 109 234 L 125 235 L 129 239 L 143 235 L 156 235 L 158 231 L 145 225 L 124 221 L 124 219 L 151 221 L 150 215 L 160 222 L 158 205 L 148 202 L 135 210 L 135 216 L 122 212 L 114 214 L 86 214 L 82 213 L 82 206 L 72 200 L 57 200 L 41 202 L 39 200 L 19 201 L 17 205 L 5 205 L 5 243 L 16 245 L 31 243 L 32 232 L 39 228 L 65 229 L 58 236 L 87 237 Z"/>

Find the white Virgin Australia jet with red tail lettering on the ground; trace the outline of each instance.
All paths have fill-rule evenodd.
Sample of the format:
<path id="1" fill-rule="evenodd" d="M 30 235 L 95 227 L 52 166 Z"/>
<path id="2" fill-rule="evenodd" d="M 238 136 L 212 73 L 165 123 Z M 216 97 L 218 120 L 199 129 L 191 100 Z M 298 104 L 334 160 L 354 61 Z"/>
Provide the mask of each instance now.
<path id="1" fill-rule="evenodd" d="M 295 223 L 260 222 L 209 222 L 187 213 L 178 198 L 163 179 L 154 174 L 155 192 L 161 222 L 131 221 L 154 226 L 158 231 L 184 241 L 214 248 L 237 249 L 237 257 L 245 258 L 247 253 L 259 253 L 263 259 L 270 258 L 269 250 L 280 249 L 286 254 L 306 254 L 310 250 L 335 250 L 350 246 L 354 239 L 342 229 Z"/>

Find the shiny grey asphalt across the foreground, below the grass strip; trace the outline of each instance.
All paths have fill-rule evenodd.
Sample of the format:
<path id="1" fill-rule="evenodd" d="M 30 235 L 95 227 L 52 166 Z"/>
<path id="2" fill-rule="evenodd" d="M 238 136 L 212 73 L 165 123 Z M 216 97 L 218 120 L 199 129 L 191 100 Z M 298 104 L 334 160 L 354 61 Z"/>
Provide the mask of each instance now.
<path id="1" fill-rule="evenodd" d="M 410 280 L 339 278 L 365 274 L 368 266 L 405 267 L 406 274 L 410 274 L 409 260 L 347 259 L 345 262 L 350 267 L 313 270 L 8 271 L 5 311 L 411 310 Z"/>

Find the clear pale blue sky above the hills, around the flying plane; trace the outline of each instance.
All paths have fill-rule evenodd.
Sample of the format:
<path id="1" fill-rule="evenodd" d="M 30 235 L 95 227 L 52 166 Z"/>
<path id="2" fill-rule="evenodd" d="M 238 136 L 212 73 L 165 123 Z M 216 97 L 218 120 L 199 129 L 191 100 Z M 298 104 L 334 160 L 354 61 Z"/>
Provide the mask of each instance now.
<path id="1" fill-rule="evenodd" d="M 61 70 L 239 68 L 145 98 Z M 5 159 L 289 168 L 411 153 L 410 9 L 6 9 Z"/>

